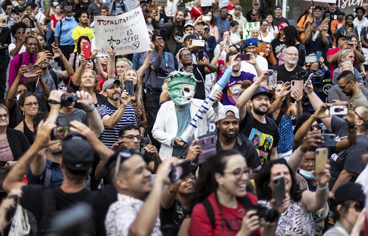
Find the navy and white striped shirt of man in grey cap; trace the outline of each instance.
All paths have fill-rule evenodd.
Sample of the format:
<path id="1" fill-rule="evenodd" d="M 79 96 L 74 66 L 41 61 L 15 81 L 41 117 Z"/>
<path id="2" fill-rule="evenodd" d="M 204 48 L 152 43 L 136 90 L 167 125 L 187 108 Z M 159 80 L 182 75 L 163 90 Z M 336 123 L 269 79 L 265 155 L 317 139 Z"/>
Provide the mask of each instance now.
<path id="1" fill-rule="evenodd" d="M 105 104 L 102 104 L 100 107 L 97 108 L 97 112 L 99 113 L 101 119 L 105 115 L 112 116 L 117 110 L 118 108 L 114 107 L 109 102 L 106 102 Z M 111 147 L 116 141 L 119 140 L 119 129 L 124 125 L 130 124 L 137 125 L 137 121 L 133 107 L 128 105 L 125 108 L 122 119 L 118 122 L 118 124 L 116 124 L 115 127 L 113 128 L 105 127 L 100 136 L 100 140 L 106 146 Z"/>

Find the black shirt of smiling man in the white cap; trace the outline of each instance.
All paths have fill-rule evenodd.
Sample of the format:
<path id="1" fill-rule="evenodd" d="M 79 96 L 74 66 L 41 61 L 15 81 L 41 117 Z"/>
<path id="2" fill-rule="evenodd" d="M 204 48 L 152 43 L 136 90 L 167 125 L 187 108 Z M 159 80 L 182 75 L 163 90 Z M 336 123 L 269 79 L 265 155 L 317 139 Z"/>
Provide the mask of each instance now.
<path id="1" fill-rule="evenodd" d="M 217 139 L 216 150 L 221 151 L 223 148 L 221 146 L 220 140 Z M 244 157 L 246 165 L 251 168 L 254 172 L 261 169 L 261 162 L 259 159 L 258 152 L 253 144 L 244 133 L 239 132 L 236 136 L 236 142 L 232 148 L 233 150 L 238 150 Z"/>

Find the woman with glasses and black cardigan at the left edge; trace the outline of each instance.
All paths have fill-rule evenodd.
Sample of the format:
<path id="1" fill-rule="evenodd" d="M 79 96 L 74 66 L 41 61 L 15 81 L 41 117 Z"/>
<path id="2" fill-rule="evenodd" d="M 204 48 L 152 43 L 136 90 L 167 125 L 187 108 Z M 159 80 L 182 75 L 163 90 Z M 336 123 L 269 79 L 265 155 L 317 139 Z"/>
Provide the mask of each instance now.
<path id="1" fill-rule="evenodd" d="M 0 104 L 0 200 L 6 197 L 6 192 L 2 189 L 10 167 L 29 148 L 29 142 L 25 135 L 19 130 L 8 127 L 9 111 Z"/>

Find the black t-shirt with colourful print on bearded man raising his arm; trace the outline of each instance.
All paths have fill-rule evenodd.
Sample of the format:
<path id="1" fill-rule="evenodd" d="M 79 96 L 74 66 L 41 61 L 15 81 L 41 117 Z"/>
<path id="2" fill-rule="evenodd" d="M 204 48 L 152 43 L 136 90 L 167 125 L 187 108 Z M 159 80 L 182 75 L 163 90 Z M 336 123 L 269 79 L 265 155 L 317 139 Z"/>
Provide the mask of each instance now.
<path id="1" fill-rule="evenodd" d="M 266 124 L 259 122 L 251 112 L 246 112 L 245 118 L 240 123 L 239 129 L 255 146 L 260 161 L 265 164 L 269 161 L 272 147 L 279 145 L 280 135 L 276 123 L 266 117 Z"/>

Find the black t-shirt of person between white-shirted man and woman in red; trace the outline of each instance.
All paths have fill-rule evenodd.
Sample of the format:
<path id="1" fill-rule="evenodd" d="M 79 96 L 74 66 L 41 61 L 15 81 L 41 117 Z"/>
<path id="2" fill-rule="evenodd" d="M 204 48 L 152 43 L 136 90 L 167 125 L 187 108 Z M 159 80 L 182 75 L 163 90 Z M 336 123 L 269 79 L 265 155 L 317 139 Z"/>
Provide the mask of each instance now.
<path id="1" fill-rule="evenodd" d="M 188 213 L 189 211 L 185 210 L 177 200 L 174 200 L 174 203 L 168 209 L 160 206 L 161 232 L 163 235 L 178 235 L 180 226 Z"/>

